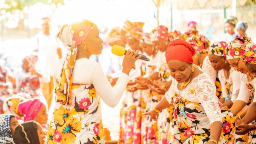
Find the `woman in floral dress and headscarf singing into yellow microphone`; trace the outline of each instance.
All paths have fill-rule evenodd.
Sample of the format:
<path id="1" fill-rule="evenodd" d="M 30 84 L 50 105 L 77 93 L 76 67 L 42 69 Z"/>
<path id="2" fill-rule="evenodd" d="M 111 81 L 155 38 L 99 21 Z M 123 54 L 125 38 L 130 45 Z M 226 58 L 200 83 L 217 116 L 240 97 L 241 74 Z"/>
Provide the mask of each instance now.
<path id="1" fill-rule="evenodd" d="M 116 86 L 112 88 L 92 54 L 102 52 L 98 27 L 82 20 L 64 24 L 57 37 L 69 46 L 66 58 L 56 64 L 54 86 L 56 106 L 48 129 L 48 143 L 104 144 L 100 98 L 114 107 L 118 104 L 137 52 L 128 50 Z"/>

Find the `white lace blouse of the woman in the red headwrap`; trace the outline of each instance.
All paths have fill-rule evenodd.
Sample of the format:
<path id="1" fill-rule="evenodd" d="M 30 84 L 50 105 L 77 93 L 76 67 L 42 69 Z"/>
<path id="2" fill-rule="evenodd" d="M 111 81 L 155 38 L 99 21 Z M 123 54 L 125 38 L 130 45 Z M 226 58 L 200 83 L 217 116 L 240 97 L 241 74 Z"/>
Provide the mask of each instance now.
<path id="1" fill-rule="evenodd" d="M 216 96 L 216 87 L 214 82 L 206 73 L 202 73 L 193 78 L 186 88 L 178 90 L 178 82 L 173 79 L 172 85 L 165 98 L 171 101 L 173 94 L 178 93 L 182 98 L 195 103 L 200 103 L 204 108 L 206 116 L 209 118 L 210 124 L 216 121 L 222 122 L 222 113 Z M 194 89 L 192 94 L 191 90 Z"/>

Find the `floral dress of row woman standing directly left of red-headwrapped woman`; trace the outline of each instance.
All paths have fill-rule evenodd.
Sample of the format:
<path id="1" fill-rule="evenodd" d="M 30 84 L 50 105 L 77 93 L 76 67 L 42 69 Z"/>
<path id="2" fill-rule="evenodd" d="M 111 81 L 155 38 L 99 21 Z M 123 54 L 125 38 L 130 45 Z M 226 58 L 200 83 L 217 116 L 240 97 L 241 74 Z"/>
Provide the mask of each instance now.
<path id="1" fill-rule="evenodd" d="M 160 81 L 170 80 L 170 71 L 166 63 L 164 53 L 158 52 L 158 62 L 156 64 L 156 72 L 160 75 Z M 162 94 L 150 92 L 146 104 L 146 111 L 151 110 L 164 97 Z M 142 120 L 142 136 L 144 144 L 167 144 L 170 141 L 170 132 L 172 131 L 173 123 L 173 107 L 162 110 L 159 114 L 158 122 L 150 121 L 149 116 L 145 116 Z"/>

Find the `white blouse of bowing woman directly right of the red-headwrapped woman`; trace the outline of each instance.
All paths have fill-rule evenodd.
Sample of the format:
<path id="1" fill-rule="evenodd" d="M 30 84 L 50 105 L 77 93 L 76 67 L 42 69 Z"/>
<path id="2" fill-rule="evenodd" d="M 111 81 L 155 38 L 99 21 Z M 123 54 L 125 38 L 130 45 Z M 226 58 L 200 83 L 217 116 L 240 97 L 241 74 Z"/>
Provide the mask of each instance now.
<path id="1" fill-rule="evenodd" d="M 226 98 L 229 96 L 232 102 L 236 100 L 239 94 L 240 83 L 241 83 L 240 74 L 241 73 L 238 71 L 235 71 L 234 68 L 230 68 L 229 77 L 228 79 L 226 79 L 223 69 L 218 72 L 218 78 L 220 80 L 221 90 L 222 90 L 222 98 Z M 231 84 L 230 90 L 228 93 L 226 92 L 226 88 L 227 88 L 225 84 L 226 82 Z"/>

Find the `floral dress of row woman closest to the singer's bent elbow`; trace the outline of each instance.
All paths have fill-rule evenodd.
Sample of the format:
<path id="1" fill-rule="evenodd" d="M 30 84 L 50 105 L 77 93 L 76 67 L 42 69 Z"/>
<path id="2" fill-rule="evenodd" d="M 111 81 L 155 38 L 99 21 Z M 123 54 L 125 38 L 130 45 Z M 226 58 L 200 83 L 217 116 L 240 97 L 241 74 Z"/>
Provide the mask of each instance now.
<path id="1" fill-rule="evenodd" d="M 133 68 L 134 78 L 146 74 L 143 64 L 136 61 Z M 130 75 L 129 75 L 130 76 Z M 128 90 L 128 87 L 135 88 L 136 84 L 126 87 L 124 92 L 124 99 L 122 101 L 122 108 L 120 109 L 120 129 L 119 129 L 119 140 L 121 144 L 139 144 L 141 142 L 141 107 L 143 107 L 140 99 L 140 90 L 136 89 L 134 92 Z M 139 108 L 138 108 L 139 107 Z M 137 112 L 137 110 L 140 110 Z"/>

